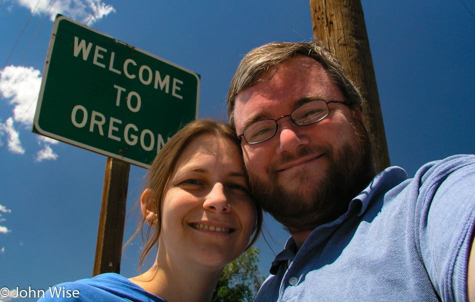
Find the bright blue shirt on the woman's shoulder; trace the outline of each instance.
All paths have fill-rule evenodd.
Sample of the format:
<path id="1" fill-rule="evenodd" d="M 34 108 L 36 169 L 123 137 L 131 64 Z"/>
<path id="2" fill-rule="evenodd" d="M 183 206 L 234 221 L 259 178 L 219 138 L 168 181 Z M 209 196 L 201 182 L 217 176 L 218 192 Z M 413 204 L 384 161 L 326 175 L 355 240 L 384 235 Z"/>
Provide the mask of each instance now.
<path id="1" fill-rule="evenodd" d="M 38 302 L 46 301 L 156 301 L 163 299 L 148 293 L 143 288 L 116 273 L 103 273 L 93 278 L 60 283 L 44 292 Z"/>

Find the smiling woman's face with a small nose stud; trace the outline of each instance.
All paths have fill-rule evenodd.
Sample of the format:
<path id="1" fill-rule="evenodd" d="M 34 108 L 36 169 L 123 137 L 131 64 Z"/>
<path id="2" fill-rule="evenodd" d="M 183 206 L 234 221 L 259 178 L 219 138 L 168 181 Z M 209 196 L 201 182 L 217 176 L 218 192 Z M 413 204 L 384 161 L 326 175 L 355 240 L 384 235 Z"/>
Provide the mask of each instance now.
<path id="1" fill-rule="evenodd" d="M 239 256 L 256 219 L 243 165 L 228 139 L 194 138 L 165 187 L 159 249 L 170 258 L 207 266 L 223 266 Z"/>

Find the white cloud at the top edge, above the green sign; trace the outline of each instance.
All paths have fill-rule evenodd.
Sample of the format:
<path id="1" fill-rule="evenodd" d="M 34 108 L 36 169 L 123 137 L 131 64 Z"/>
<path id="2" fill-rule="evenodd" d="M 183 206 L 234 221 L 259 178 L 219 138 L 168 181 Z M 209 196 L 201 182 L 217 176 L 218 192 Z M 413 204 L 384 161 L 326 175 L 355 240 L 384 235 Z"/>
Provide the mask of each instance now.
<path id="1" fill-rule="evenodd" d="M 16 0 L 16 2 L 28 8 L 31 12 L 37 5 L 34 13 L 48 13 L 51 20 L 54 20 L 57 13 L 82 23 L 86 23 L 90 18 L 88 25 L 93 24 L 110 12 L 115 12 L 115 8 L 110 4 L 101 3 L 99 5 L 100 0 L 56 0 L 51 8 L 50 5 L 53 0 L 43 0 L 39 1 L 39 3 L 37 0 Z M 97 7 L 98 5 L 99 7 Z M 93 17 L 91 17 L 92 13 L 94 13 Z"/>

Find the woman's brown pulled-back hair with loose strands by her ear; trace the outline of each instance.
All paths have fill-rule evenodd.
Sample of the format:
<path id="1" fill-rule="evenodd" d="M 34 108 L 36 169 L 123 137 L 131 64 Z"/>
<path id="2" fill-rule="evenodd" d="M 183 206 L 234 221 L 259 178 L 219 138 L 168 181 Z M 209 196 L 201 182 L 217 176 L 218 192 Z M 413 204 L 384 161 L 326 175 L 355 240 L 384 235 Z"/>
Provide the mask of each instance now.
<path id="1" fill-rule="evenodd" d="M 138 224 L 137 229 L 135 230 L 132 237 L 127 241 L 127 243 L 130 242 L 130 240 L 132 240 L 138 233 L 142 234 L 144 246 L 138 262 L 138 267 L 140 270 L 147 253 L 156 245 L 156 242 L 158 241 L 158 237 L 160 235 L 161 205 L 163 195 L 166 184 L 168 183 L 168 180 L 170 179 L 171 174 L 175 168 L 176 161 L 178 160 L 178 157 L 186 148 L 186 146 L 188 146 L 188 144 L 194 138 L 203 134 L 210 134 L 214 135 L 215 137 L 228 139 L 236 145 L 237 150 L 242 156 L 240 142 L 234 129 L 232 129 L 226 123 L 216 122 L 213 119 L 198 119 L 188 123 L 178 132 L 176 132 L 176 134 L 174 134 L 164 144 L 163 148 L 158 152 L 155 159 L 153 160 L 153 163 L 150 166 L 144 186 L 144 188 L 151 189 L 154 194 L 153 198 L 150 198 L 150 200 L 154 201 L 153 211 L 157 215 L 156 224 L 154 227 L 148 226 L 148 224 L 145 223 L 145 217 L 141 215 L 142 218 Z M 259 236 L 262 227 L 262 209 L 260 207 L 260 204 L 258 204 L 255 200 L 253 201 L 256 209 L 256 221 L 254 225 L 252 239 L 250 240 L 246 249 L 251 246 L 255 242 L 255 240 L 257 240 L 257 237 Z M 140 200 L 137 201 L 137 204 L 139 202 Z M 146 228 L 145 234 L 144 228 Z"/>

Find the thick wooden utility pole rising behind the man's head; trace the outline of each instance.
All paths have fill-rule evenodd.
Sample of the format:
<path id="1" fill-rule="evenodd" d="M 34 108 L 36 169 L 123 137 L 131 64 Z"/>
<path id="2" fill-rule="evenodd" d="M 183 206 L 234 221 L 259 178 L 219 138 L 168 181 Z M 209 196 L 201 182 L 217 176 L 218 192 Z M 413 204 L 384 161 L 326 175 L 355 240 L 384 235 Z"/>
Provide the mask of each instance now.
<path id="1" fill-rule="evenodd" d="M 336 54 L 359 88 L 376 170 L 390 165 L 376 77 L 360 0 L 310 0 L 313 37 Z"/>

